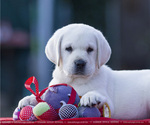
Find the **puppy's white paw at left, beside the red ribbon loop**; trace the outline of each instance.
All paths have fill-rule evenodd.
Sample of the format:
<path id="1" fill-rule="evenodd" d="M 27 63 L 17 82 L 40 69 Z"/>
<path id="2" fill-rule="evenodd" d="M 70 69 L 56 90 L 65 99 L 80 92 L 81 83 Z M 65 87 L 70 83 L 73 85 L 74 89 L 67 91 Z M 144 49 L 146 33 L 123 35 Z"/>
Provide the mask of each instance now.
<path id="1" fill-rule="evenodd" d="M 31 96 L 26 96 L 23 99 L 21 99 L 18 103 L 18 108 L 23 108 L 27 105 L 32 105 L 35 106 L 38 102 L 36 101 L 35 96 L 31 95 Z"/>

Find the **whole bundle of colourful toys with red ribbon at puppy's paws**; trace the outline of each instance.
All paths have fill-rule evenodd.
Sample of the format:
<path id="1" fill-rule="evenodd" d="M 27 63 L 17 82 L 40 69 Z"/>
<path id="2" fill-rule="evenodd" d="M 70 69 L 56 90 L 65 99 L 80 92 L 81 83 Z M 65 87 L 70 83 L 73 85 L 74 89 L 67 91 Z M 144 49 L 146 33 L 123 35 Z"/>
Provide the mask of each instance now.
<path id="1" fill-rule="evenodd" d="M 31 89 L 31 84 L 35 85 L 36 92 Z M 96 107 L 79 107 L 80 98 L 76 91 L 67 84 L 57 84 L 49 86 L 39 92 L 38 81 L 33 76 L 27 79 L 25 87 L 33 93 L 38 104 L 26 106 L 22 109 L 16 108 L 13 113 L 14 120 L 59 120 L 76 117 L 110 117 L 110 108 L 108 105 L 103 106 L 100 113 Z M 78 109 L 77 109 L 78 108 Z"/>

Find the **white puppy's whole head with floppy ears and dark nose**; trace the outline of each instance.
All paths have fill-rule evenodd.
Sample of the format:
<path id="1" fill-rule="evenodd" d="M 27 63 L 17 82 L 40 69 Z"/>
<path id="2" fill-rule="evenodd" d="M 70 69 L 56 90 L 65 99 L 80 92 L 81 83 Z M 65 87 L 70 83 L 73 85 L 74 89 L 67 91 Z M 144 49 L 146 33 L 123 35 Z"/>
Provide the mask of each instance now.
<path id="1" fill-rule="evenodd" d="M 107 63 L 111 49 L 100 31 L 84 24 L 70 24 L 54 33 L 45 53 L 67 76 L 87 77 Z"/>

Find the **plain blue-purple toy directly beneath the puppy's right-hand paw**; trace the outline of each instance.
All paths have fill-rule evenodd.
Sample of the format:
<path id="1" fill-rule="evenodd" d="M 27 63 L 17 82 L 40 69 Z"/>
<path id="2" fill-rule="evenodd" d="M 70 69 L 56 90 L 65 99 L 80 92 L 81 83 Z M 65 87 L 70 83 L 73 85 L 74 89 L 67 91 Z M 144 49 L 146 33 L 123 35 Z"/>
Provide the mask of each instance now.
<path id="1" fill-rule="evenodd" d="M 100 117 L 101 113 L 96 107 L 80 106 L 79 117 Z"/>

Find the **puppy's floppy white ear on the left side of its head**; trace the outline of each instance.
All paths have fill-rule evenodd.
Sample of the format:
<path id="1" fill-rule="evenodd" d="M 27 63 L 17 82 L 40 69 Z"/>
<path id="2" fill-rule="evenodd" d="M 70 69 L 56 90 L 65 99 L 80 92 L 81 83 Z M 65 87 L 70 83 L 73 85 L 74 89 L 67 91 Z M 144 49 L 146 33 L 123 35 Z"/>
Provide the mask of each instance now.
<path id="1" fill-rule="evenodd" d="M 59 30 L 57 30 L 54 35 L 48 40 L 45 47 L 47 58 L 57 66 L 60 65 L 61 59 L 61 41 L 62 34 Z"/>

